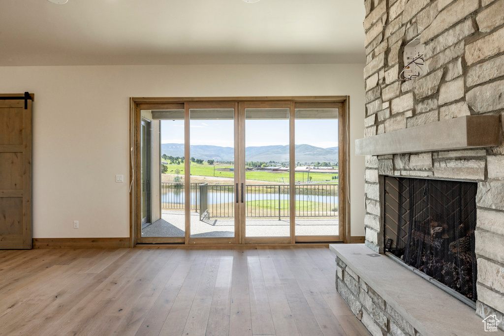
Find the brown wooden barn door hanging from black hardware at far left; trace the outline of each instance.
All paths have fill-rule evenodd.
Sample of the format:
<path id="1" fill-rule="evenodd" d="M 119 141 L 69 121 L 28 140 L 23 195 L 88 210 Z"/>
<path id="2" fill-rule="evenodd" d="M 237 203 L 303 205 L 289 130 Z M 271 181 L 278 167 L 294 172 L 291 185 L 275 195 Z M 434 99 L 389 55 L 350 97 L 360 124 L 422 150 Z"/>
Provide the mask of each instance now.
<path id="1" fill-rule="evenodd" d="M 0 95 L 0 249 L 32 247 L 32 98 Z"/>

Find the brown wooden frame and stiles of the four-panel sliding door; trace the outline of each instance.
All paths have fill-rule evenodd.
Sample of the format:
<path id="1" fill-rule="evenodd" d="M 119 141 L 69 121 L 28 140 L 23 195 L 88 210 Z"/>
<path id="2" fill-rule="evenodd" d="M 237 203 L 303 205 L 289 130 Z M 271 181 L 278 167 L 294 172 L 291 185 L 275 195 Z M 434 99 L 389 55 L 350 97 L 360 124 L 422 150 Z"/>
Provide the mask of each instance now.
<path id="1" fill-rule="evenodd" d="M 130 166 L 130 246 L 134 247 L 138 243 L 159 243 L 156 237 L 141 236 L 141 180 L 139 178 L 141 169 L 140 157 L 140 124 L 141 110 L 163 110 L 163 109 L 183 109 L 184 110 L 184 140 L 186 144 L 190 141 L 190 108 L 223 108 L 231 106 L 234 103 L 234 123 L 235 132 L 242 135 L 245 127 L 244 109 L 246 106 L 261 106 L 267 108 L 275 105 L 285 105 L 289 108 L 289 123 L 290 123 L 290 153 L 289 160 L 291 164 L 294 161 L 294 114 L 296 108 L 329 108 L 338 105 L 338 136 L 339 136 L 339 162 L 338 162 L 338 201 L 339 201 L 339 235 L 338 236 L 295 236 L 295 225 L 292 224 L 295 219 L 295 198 L 289 199 L 289 215 L 291 219 L 290 236 L 289 237 L 247 237 L 245 239 L 245 222 L 240 221 L 239 225 L 235 224 L 234 238 L 191 238 L 190 237 L 190 216 L 189 212 L 185 212 L 185 237 L 164 237 L 165 243 L 183 243 L 185 245 L 196 244 L 295 244 L 300 242 L 328 242 L 338 239 L 340 242 L 350 243 L 350 213 L 349 213 L 349 96 L 302 96 L 302 97 L 183 97 L 183 98 L 131 98 L 130 99 L 130 132 L 131 132 L 131 166 Z M 227 107 L 229 108 L 229 107 Z M 244 181 L 244 138 L 235 136 L 235 181 Z M 184 146 L 185 158 L 190 155 L 190 146 Z M 242 162 L 243 161 L 243 162 Z M 184 180 L 190 181 L 190 160 L 184 160 Z M 289 185 L 292 188 L 295 185 L 295 170 L 291 169 L 289 173 Z M 185 183 L 185 189 L 190 188 L 188 183 Z M 185 190 L 185 204 L 190 204 L 190 192 Z M 236 192 L 238 192 L 236 190 Z M 235 214 L 241 214 L 244 211 L 244 203 L 235 204 Z M 236 217 L 235 217 L 236 221 Z M 140 239 L 141 238 L 141 239 Z M 141 242 L 140 242 L 141 240 Z"/>

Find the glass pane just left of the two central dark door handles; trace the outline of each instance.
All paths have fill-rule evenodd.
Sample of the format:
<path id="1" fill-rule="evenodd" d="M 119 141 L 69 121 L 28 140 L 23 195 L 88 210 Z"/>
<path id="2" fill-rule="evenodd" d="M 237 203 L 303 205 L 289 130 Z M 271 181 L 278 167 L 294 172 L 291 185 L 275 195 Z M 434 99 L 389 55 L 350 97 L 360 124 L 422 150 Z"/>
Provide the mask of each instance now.
<path id="1" fill-rule="evenodd" d="M 234 103 L 233 103 L 234 105 Z M 191 108 L 191 238 L 234 237 L 234 108 Z"/>

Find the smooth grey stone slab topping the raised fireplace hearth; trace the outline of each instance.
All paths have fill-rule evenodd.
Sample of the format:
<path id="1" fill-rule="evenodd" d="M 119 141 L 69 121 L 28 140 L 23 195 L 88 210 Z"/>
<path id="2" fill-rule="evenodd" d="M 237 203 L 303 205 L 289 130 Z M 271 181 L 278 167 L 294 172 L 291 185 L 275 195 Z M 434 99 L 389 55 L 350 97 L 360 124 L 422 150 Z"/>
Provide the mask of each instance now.
<path id="1" fill-rule="evenodd" d="M 423 336 L 487 334 L 472 308 L 392 258 L 364 244 L 330 244 L 329 248 Z"/>

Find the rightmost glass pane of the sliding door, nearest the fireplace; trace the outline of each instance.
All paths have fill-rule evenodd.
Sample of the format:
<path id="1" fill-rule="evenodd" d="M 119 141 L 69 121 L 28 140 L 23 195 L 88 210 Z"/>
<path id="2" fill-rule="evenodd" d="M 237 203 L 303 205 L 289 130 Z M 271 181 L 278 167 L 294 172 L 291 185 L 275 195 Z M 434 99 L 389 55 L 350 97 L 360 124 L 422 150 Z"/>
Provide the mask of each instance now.
<path id="1" fill-rule="evenodd" d="M 338 109 L 295 110 L 296 236 L 337 236 Z"/>

